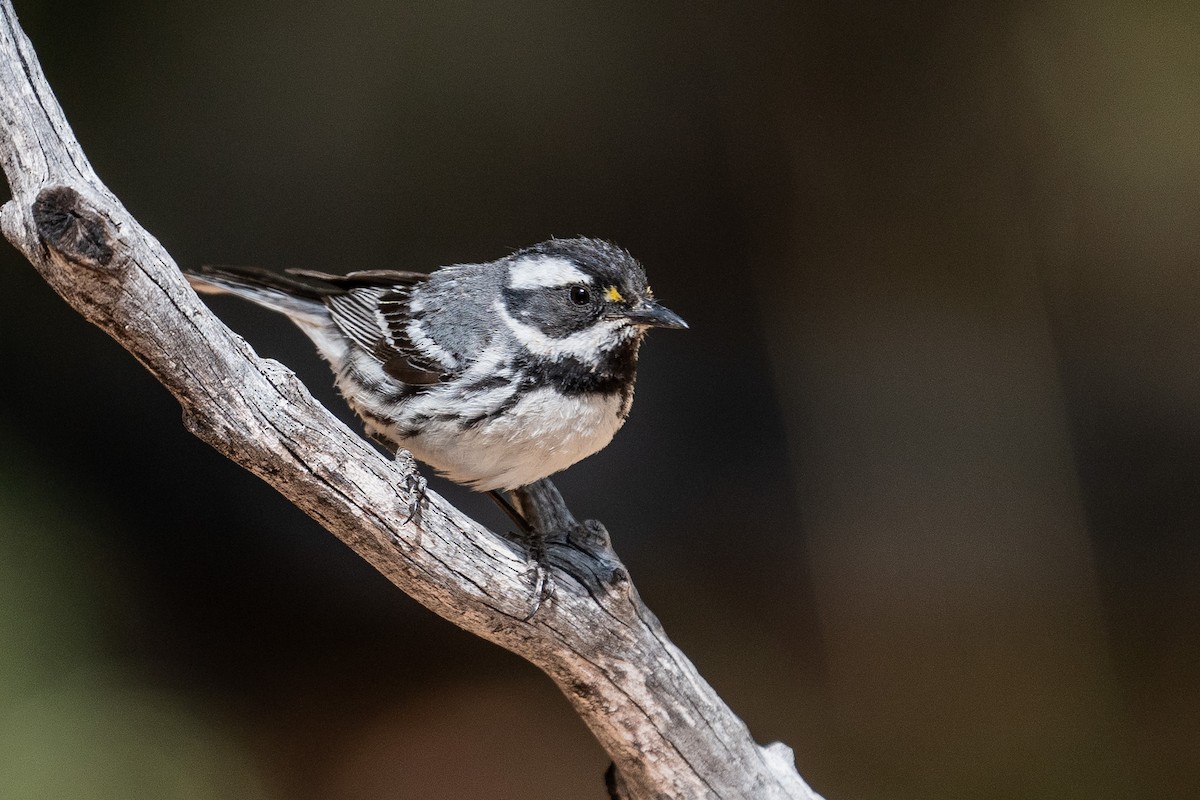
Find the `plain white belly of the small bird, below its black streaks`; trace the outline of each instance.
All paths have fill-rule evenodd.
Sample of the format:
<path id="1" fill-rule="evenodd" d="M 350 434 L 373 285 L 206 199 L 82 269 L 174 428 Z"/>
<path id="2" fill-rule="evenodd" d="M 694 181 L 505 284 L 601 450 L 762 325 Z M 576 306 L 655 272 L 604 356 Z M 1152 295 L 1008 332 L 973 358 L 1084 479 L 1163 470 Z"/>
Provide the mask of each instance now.
<path id="1" fill-rule="evenodd" d="M 473 489 L 511 489 L 553 475 L 612 441 L 625 422 L 622 398 L 536 389 L 475 427 L 431 420 L 391 437 L 440 475 Z"/>

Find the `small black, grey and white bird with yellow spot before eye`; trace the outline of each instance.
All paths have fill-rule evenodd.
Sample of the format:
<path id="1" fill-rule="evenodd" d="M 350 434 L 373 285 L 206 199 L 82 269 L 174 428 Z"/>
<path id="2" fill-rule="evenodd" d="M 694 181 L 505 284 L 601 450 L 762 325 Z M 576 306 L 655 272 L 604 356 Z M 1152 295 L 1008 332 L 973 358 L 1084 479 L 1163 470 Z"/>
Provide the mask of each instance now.
<path id="1" fill-rule="evenodd" d="M 203 267 L 202 293 L 292 319 L 367 433 L 481 492 L 515 489 L 605 445 L 634 399 L 650 327 L 686 327 L 626 251 L 552 239 L 430 275 Z"/>

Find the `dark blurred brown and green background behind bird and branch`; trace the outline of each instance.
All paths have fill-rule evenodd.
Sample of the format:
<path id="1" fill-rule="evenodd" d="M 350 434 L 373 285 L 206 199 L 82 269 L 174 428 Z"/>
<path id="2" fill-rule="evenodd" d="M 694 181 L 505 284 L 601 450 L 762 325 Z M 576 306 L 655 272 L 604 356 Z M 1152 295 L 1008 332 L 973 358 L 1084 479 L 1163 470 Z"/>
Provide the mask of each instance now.
<path id="1" fill-rule="evenodd" d="M 558 486 L 816 790 L 1194 796 L 1194 2 L 16 6 L 180 264 L 632 251 L 691 330 Z M 0 796 L 604 796 L 548 679 L 0 270 Z"/>

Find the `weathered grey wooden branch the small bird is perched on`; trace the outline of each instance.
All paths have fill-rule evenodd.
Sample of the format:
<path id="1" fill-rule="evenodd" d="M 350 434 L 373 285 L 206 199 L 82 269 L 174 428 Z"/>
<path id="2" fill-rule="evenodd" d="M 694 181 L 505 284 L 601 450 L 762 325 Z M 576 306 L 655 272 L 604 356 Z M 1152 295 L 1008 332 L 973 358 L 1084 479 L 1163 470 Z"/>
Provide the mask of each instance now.
<path id="1" fill-rule="evenodd" d="M 613 796 L 817 796 L 791 750 L 755 744 L 641 602 L 604 528 L 577 523 L 548 481 L 517 497 L 548 537 L 552 593 L 532 616 L 538 573 L 520 545 L 432 492 L 404 523 L 412 461 L 384 458 L 199 301 L 96 176 L 11 0 L 0 0 L 0 161 L 5 236 L 175 396 L 187 429 L 427 608 L 545 670 L 612 756 Z"/>

